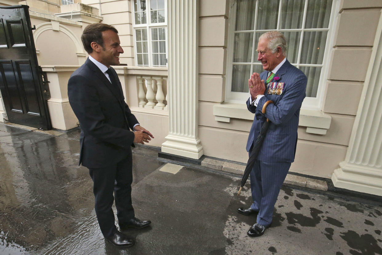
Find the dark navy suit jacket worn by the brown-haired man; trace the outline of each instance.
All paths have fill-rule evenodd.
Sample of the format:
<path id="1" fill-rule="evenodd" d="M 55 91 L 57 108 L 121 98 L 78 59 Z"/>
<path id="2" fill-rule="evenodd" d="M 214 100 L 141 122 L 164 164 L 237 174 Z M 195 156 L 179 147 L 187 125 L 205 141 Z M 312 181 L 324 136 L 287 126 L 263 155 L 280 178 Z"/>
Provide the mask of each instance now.
<path id="1" fill-rule="evenodd" d="M 107 167 L 131 153 L 133 130 L 138 123 L 126 104 L 117 73 L 118 87 L 89 58 L 70 76 L 68 97 L 81 127 L 79 164 Z"/>

